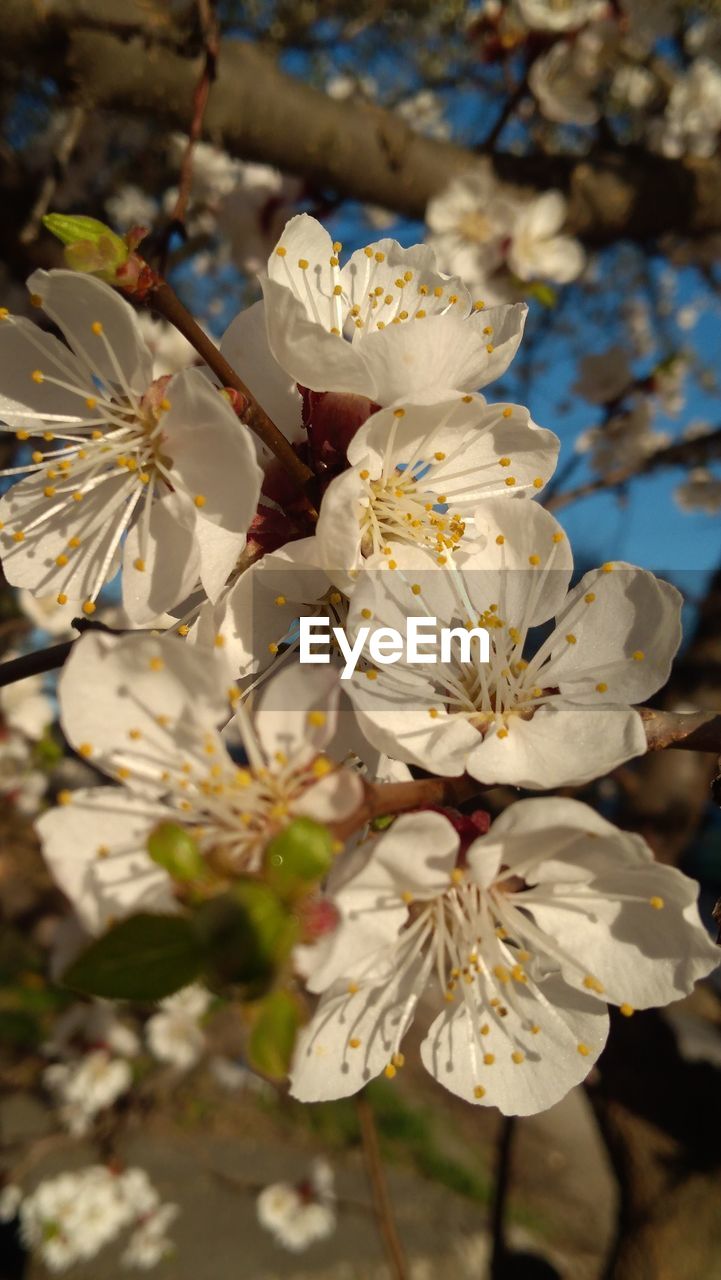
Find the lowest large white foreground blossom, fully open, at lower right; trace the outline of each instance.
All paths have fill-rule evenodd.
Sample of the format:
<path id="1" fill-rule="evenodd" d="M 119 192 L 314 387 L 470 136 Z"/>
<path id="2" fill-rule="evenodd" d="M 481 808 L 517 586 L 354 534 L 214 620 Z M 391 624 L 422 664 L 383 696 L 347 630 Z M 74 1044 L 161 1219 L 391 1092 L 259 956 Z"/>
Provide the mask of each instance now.
<path id="1" fill-rule="evenodd" d="M 626 1015 L 668 1004 L 718 961 L 695 882 L 576 800 L 523 800 L 464 856 L 460 846 L 441 814 L 397 818 L 337 893 L 334 946 L 307 982 L 321 1000 L 296 1046 L 295 1097 L 392 1079 L 419 1011 L 434 1018 L 420 1050 L 434 1079 L 530 1115 L 585 1078 L 607 1002 Z"/>

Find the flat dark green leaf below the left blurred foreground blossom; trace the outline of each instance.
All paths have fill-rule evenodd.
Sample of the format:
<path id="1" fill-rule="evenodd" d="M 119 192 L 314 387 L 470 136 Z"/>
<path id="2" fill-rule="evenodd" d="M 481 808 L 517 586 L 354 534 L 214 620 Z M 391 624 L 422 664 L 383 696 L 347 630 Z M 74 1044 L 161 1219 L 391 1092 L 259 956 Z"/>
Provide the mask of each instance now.
<path id="1" fill-rule="evenodd" d="M 63 983 L 106 1000 L 161 1000 L 197 978 L 202 951 L 181 915 L 131 915 L 70 965 Z"/>

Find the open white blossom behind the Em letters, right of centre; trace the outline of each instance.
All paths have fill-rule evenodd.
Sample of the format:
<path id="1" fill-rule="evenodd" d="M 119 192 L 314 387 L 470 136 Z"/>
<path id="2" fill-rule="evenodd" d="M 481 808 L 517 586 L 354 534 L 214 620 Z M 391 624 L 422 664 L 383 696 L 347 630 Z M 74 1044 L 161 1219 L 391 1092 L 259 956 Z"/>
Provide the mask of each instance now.
<path id="1" fill-rule="evenodd" d="M 479 548 L 458 553 L 450 572 L 417 550 L 405 568 L 370 571 L 356 586 L 348 630 L 368 626 L 366 645 L 382 626 L 403 634 L 409 616 L 489 635 L 488 664 L 471 641 L 467 660 L 458 645 L 433 666 L 397 653 L 394 666 L 357 669 L 347 689 L 369 741 L 434 773 L 525 787 L 587 782 L 645 751 L 631 704 L 668 676 L 676 589 L 615 562 L 567 593 L 567 539 L 535 503 L 487 499 L 475 538 Z M 535 628 L 553 617 L 539 640 Z M 438 658 L 438 641 L 426 653 Z"/>

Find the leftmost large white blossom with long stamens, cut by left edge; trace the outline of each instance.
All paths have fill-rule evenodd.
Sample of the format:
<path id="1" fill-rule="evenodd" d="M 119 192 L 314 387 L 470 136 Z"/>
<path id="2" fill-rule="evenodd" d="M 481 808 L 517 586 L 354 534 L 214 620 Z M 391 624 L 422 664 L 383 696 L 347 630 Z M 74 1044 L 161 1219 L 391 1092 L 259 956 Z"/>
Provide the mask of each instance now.
<path id="1" fill-rule="evenodd" d="M 0 499 L 8 580 L 90 614 L 122 559 L 136 622 L 198 580 L 215 598 L 260 494 L 247 431 L 198 370 L 152 381 L 134 312 L 109 285 L 73 271 L 28 284 L 70 349 L 3 317 L 0 412 L 20 440 L 54 442 L 14 468 L 29 474 Z"/>

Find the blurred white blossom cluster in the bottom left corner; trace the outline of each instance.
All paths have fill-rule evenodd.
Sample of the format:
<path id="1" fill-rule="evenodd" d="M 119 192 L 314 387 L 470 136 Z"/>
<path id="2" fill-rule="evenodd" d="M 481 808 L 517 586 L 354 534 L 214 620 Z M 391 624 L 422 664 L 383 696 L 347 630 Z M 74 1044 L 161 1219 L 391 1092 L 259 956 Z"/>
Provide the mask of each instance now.
<path id="1" fill-rule="evenodd" d="M 50 1271 L 93 1258 L 120 1235 L 123 1266 L 155 1267 L 173 1251 L 168 1228 L 177 1213 L 175 1204 L 161 1202 L 143 1169 L 90 1165 L 47 1178 L 27 1196 L 14 1184 L 0 1193 L 0 1221 L 18 1215 L 20 1239 Z"/>

